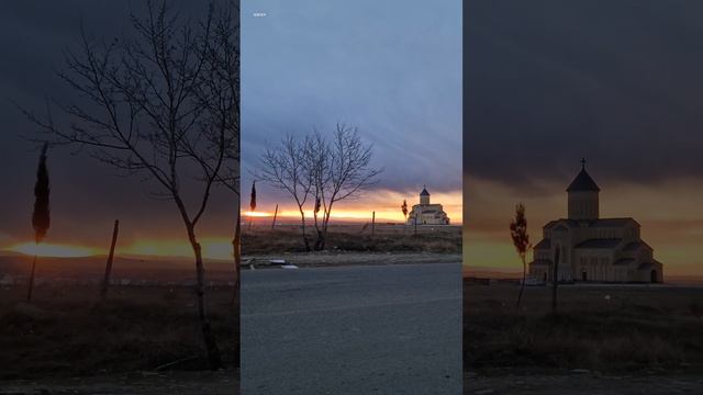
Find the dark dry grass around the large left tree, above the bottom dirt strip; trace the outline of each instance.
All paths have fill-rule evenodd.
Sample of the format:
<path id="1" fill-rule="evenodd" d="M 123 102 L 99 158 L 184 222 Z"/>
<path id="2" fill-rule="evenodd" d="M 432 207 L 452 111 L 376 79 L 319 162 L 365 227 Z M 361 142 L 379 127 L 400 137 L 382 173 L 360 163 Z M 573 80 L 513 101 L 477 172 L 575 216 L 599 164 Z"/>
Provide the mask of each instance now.
<path id="1" fill-rule="evenodd" d="M 187 287 L 113 287 L 97 303 L 92 286 L 0 290 L 0 380 L 91 376 L 155 368 L 181 360 L 174 369 L 204 370 L 204 350 Z M 223 358 L 236 364 L 238 312 L 232 290 L 209 293 L 210 318 Z"/>

